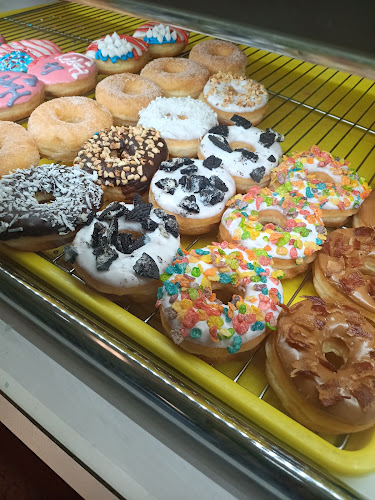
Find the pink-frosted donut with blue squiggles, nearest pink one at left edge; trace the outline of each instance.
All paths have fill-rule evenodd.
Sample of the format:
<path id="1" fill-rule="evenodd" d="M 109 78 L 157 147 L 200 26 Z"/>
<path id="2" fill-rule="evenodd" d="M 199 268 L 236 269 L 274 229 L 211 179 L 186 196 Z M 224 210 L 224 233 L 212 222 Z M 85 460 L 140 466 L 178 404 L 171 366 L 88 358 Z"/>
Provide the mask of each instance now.
<path id="1" fill-rule="evenodd" d="M 0 120 L 21 120 L 44 100 L 44 85 L 35 75 L 0 71 Z"/>

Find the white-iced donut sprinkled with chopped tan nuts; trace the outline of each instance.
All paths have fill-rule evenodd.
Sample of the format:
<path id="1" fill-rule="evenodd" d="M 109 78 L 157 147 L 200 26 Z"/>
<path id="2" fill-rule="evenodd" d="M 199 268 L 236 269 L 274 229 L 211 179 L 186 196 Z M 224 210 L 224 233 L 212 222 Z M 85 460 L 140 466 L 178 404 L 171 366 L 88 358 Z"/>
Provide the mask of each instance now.
<path id="1" fill-rule="evenodd" d="M 231 118 L 236 114 L 257 125 L 266 112 L 268 92 L 255 80 L 217 73 L 208 80 L 199 98 L 215 111 L 219 123 L 233 125 Z"/>

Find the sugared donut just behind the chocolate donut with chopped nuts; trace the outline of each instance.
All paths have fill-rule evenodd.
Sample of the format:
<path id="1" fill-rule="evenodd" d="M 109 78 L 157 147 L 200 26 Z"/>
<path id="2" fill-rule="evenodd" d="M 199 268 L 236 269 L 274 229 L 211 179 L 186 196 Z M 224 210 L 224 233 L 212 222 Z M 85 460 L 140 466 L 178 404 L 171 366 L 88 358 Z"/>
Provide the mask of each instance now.
<path id="1" fill-rule="evenodd" d="M 58 97 L 31 113 L 27 129 L 46 158 L 72 163 L 82 145 L 112 125 L 111 113 L 87 97 Z"/>

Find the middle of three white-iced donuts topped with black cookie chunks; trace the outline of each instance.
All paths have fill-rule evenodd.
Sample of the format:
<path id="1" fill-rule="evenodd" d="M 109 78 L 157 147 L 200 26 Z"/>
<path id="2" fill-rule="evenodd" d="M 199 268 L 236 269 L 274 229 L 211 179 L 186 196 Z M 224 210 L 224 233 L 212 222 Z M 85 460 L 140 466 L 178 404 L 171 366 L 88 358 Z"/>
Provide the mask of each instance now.
<path id="1" fill-rule="evenodd" d="M 217 228 L 225 203 L 235 193 L 232 177 L 214 156 L 163 162 L 151 181 L 149 200 L 176 217 L 181 234 Z"/>

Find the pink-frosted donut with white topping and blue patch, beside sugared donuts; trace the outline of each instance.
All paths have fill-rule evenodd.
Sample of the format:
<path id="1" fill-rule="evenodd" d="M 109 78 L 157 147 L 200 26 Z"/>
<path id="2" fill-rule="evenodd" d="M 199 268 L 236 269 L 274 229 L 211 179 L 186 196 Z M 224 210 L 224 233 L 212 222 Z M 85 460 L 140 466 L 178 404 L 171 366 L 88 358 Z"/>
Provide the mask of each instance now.
<path id="1" fill-rule="evenodd" d="M 81 95 L 96 85 L 98 69 L 89 57 L 77 52 L 53 54 L 33 61 L 27 72 L 36 75 L 51 97 Z"/>

